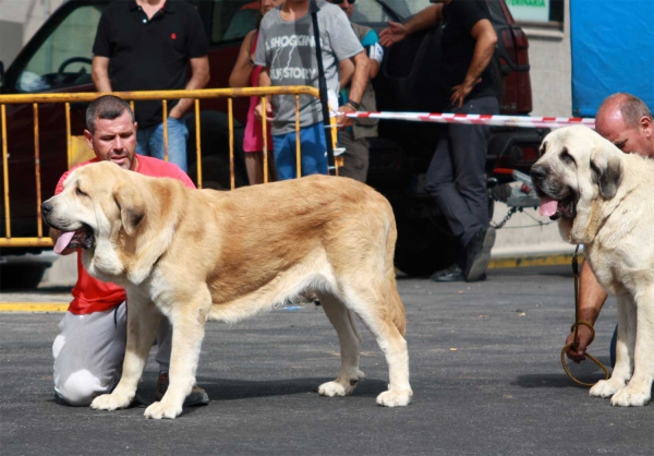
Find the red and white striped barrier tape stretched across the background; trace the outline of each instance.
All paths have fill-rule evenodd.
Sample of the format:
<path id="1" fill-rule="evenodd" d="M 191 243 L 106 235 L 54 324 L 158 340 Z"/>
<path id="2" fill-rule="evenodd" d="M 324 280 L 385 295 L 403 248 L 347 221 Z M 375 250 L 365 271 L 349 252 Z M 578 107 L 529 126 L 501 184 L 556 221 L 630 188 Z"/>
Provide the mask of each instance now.
<path id="1" fill-rule="evenodd" d="M 354 119 L 393 119 L 413 122 L 461 123 L 472 125 L 559 128 L 585 125 L 595 129 L 595 119 L 580 117 L 526 117 L 431 112 L 348 112 Z"/>

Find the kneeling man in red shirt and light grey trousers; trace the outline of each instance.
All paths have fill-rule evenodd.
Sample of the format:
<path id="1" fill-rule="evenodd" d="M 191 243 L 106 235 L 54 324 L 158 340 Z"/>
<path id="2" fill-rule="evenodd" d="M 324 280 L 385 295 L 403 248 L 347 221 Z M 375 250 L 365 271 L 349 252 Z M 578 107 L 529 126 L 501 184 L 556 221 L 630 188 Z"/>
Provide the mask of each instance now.
<path id="1" fill-rule="evenodd" d="M 82 163 L 59 180 L 56 194 L 63 191 L 70 172 L 81 166 L 100 160 L 112 161 L 123 169 L 152 177 L 179 179 L 186 187 L 195 185 L 177 165 L 136 155 L 136 122 L 130 105 L 113 95 L 96 98 L 86 111 L 84 136 L 96 158 Z M 55 252 L 68 255 L 77 252 L 77 283 L 73 300 L 59 323 L 61 333 L 52 345 L 55 357 L 55 397 L 58 403 L 88 406 L 101 394 L 110 393 L 118 384 L 126 343 L 125 290 L 111 283 L 102 283 L 84 269 L 73 236 L 51 228 Z M 159 381 L 156 397 L 159 400 L 168 387 L 172 331 L 165 319 L 159 326 Z M 204 389 L 194 386 L 184 405 L 206 405 L 209 398 Z"/>

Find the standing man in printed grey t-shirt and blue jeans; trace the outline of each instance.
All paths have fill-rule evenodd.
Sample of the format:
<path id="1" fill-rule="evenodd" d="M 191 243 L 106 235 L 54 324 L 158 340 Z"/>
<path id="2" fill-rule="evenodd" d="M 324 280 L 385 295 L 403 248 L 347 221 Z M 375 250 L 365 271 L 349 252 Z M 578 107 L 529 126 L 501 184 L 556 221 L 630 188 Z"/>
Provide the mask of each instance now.
<path id="1" fill-rule="evenodd" d="M 367 84 L 368 59 L 354 35 L 346 14 L 325 1 L 318 2 L 318 28 L 327 88 L 339 91 L 339 62 L 352 59 L 355 65 L 348 104 L 341 112 L 355 111 Z M 263 19 L 257 41 L 255 64 L 264 67 L 259 86 L 310 85 L 318 87 L 314 32 L 308 13 L 308 0 L 287 0 Z M 261 116 L 261 106 L 257 109 Z M 295 177 L 295 97 L 272 98 L 272 142 L 279 180 Z M 269 113 L 269 112 L 268 112 Z M 351 119 L 339 118 L 342 127 Z M 300 96 L 300 142 L 302 175 L 327 173 L 327 149 L 319 99 Z"/>

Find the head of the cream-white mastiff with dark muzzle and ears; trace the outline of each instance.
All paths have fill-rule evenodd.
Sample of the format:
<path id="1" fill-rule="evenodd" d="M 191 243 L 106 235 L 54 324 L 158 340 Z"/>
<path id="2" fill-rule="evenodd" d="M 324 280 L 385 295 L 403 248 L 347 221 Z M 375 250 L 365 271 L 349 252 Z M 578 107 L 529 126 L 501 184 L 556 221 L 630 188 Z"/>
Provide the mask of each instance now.
<path id="1" fill-rule="evenodd" d="M 586 127 L 555 130 L 543 140 L 541 158 L 531 170 L 541 196 L 541 215 L 559 220 L 570 239 L 579 213 L 597 199 L 613 199 L 622 178 L 622 154 Z M 583 224 L 589 223 L 584 214 Z M 566 236 L 567 235 L 567 236 Z"/>

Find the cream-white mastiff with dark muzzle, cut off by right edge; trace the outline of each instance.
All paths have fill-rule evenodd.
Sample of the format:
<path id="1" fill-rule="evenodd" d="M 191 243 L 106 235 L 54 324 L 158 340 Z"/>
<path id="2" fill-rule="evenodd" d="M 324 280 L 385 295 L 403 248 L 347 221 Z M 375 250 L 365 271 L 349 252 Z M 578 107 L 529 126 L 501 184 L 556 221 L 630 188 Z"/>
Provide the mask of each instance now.
<path id="1" fill-rule="evenodd" d="M 644 406 L 654 380 L 654 160 L 623 154 L 585 127 L 549 133 L 532 168 L 541 214 L 583 244 L 600 284 L 618 300 L 616 367 L 591 396 Z"/>

